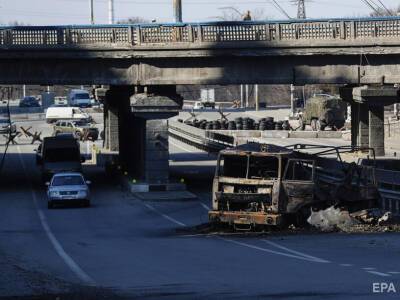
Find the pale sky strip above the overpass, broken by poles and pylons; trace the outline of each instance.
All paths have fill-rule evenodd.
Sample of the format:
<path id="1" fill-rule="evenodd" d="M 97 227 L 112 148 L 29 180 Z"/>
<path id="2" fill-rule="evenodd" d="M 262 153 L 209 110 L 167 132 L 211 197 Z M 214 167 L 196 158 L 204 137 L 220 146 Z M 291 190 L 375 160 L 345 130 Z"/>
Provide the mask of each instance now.
<path id="1" fill-rule="evenodd" d="M 272 0 L 182 0 L 183 21 L 213 21 L 223 15 L 223 7 L 262 12 L 269 19 L 285 19 Z M 276 0 L 290 16 L 296 6 L 290 0 Z M 371 11 L 363 0 L 306 0 L 308 18 L 361 17 Z M 376 2 L 378 0 L 375 0 Z M 381 0 L 387 7 L 398 7 L 400 0 Z M 172 0 L 114 0 L 116 20 L 140 16 L 171 22 Z M 94 0 L 95 23 L 106 24 L 107 0 Z M 29 25 L 88 24 L 89 0 L 0 0 L 0 23 L 13 21 Z"/>

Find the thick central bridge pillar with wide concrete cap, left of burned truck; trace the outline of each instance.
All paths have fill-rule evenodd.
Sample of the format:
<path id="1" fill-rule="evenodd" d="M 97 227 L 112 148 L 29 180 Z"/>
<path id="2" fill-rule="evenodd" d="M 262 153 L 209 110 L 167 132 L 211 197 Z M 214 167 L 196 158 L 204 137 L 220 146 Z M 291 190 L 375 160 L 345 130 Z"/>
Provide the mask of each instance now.
<path id="1" fill-rule="evenodd" d="M 182 107 L 175 86 L 113 86 L 119 99 L 119 156 L 122 168 L 149 184 L 168 183 L 168 118 Z"/>

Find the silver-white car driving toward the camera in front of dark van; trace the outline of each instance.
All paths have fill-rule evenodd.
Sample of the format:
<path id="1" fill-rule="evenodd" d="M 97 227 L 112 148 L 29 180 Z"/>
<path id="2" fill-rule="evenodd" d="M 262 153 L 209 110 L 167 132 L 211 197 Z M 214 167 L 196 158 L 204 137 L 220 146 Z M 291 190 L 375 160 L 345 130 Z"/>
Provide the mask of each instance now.
<path id="1" fill-rule="evenodd" d="M 47 182 L 47 207 L 56 204 L 83 204 L 90 206 L 90 181 L 81 173 L 58 173 Z"/>

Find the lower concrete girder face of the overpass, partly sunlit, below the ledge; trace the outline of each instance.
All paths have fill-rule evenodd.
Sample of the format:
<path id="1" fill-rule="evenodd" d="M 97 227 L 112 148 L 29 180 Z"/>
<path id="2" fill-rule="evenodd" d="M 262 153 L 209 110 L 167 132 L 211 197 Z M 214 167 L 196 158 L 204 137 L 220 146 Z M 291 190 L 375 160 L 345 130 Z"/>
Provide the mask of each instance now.
<path id="1" fill-rule="evenodd" d="M 58 53 L 52 54 L 53 57 L 32 58 L 25 53 L 25 58 L 0 58 L 0 69 L 7 70 L 0 74 L 0 84 L 303 85 L 356 84 L 359 81 L 357 55 L 280 55 L 277 52 L 255 56 L 250 51 L 235 57 L 222 51 L 206 57 L 191 57 L 191 51 L 187 50 L 186 57 L 144 59 L 132 58 L 129 53 L 121 57 L 112 53 L 111 58 L 104 59 L 77 52 L 83 57 L 72 58 L 66 53 L 63 57 Z M 388 84 L 400 82 L 400 56 L 370 55 L 368 59 L 374 64 L 362 66 L 362 84 L 380 84 L 382 80 Z"/>

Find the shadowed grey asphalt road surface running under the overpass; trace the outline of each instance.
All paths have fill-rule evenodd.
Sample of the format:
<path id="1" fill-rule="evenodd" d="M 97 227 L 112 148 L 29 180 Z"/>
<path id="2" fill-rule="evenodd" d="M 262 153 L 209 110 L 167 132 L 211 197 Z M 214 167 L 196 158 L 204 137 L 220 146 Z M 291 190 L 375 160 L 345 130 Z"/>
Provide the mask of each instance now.
<path id="1" fill-rule="evenodd" d="M 189 176 L 197 200 L 141 201 L 88 166 L 93 206 L 53 210 L 35 146 L 10 147 L 0 175 L 0 299 L 399 297 L 399 234 L 186 233 L 207 221 L 214 158 L 172 142 L 176 176 L 198 169 Z M 381 282 L 397 293 L 373 293 Z"/>

